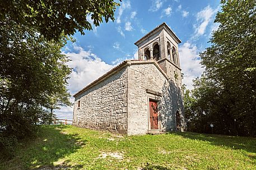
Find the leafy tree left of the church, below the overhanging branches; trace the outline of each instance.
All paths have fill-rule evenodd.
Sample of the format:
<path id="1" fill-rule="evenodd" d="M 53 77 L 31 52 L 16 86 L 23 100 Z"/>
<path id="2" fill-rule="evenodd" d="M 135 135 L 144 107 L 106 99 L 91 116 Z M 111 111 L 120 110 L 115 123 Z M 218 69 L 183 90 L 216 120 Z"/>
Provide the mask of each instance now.
<path id="1" fill-rule="evenodd" d="M 10 136 L 21 139 L 34 135 L 40 120 L 49 122 L 53 117 L 49 103 L 70 104 L 66 86 L 71 69 L 66 65 L 67 57 L 60 54 L 66 37 L 48 41 L 12 20 L 1 24 L 0 135 L 4 147 Z M 52 102 L 56 96 L 58 100 Z"/>

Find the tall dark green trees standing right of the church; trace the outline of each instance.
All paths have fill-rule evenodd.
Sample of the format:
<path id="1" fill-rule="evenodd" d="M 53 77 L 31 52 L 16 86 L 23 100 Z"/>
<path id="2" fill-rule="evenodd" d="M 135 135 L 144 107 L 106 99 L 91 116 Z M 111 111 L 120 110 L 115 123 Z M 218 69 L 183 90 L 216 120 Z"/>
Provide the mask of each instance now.
<path id="1" fill-rule="evenodd" d="M 221 118 L 214 116 L 223 122 L 223 133 L 256 135 L 256 1 L 221 3 L 215 19 L 220 26 L 212 34 L 212 46 L 201 54 L 205 78 L 211 82 L 207 88 L 215 89 L 216 98 L 204 100 L 210 104 L 209 114 Z M 203 94 L 201 87 L 195 86 Z"/>

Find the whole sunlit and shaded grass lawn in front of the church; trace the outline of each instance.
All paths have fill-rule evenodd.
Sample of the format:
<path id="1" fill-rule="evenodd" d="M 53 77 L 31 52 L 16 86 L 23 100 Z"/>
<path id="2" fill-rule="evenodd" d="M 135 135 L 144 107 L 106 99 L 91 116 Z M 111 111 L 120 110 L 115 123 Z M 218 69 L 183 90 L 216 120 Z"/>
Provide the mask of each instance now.
<path id="1" fill-rule="evenodd" d="M 198 133 L 119 136 L 43 126 L 0 169 L 256 169 L 256 138 Z"/>

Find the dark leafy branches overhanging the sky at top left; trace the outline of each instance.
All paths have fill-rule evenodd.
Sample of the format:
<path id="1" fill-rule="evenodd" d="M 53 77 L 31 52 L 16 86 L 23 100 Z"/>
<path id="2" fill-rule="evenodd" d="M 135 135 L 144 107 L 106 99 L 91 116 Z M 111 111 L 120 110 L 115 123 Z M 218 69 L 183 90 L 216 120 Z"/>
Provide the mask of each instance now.
<path id="1" fill-rule="evenodd" d="M 78 30 L 92 30 L 91 22 L 99 26 L 103 18 L 114 21 L 115 8 L 119 4 L 113 0 L 77 1 L 1 1 L 0 21 L 11 19 L 17 25 L 34 28 L 48 40 L 59 40 L 64 35 L 74 35 Z"/>

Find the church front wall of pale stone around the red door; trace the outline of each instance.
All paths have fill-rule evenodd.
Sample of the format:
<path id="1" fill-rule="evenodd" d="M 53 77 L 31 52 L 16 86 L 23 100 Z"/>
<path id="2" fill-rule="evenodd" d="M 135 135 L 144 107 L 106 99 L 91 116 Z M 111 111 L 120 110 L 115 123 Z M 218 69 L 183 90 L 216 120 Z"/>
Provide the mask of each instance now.
<path id="1" fill-rule="evenodd" d="M 148 98 L 146 89 L 161 93 L 159 111 L 161 129 L 174 130 L 175 115 L 172 109 L 172 92 L 169 81 L 154 64 L 138 64 L 128 67 L 128 135 L 148 132 Z"/>

